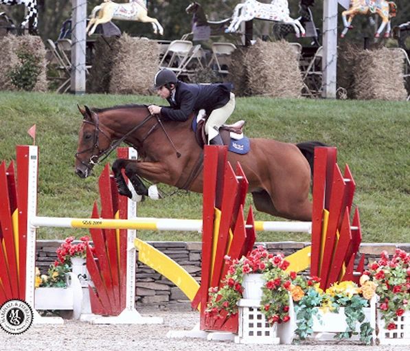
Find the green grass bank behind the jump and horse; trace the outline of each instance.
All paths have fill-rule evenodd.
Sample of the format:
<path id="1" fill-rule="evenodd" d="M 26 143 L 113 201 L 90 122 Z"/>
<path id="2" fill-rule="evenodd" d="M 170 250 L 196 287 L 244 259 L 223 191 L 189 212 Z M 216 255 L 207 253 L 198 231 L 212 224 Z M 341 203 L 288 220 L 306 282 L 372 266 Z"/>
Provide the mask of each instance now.
<path id="1" fill-rule="evenodd" d="M 88 217 L 98 199 L 96 180 L 102 166 L 88 179 L 73 172 L 82 119 L 76 105 L 104 107 L 133 102 L 163 103 L 157 97 L 134 95 L 0 93 L 0 159 L 14 159 L 16 144 L 32 143 L 27 130 L 37 125 L 39 215 Z M 360 210 L 363 241 L 410 242 L 409 111 L 409 102 L 237 98 L 230 121 L 247 120 L 245 131 L 251 137 L 319 140 L 337 146 L 342 172 L 348 163 L 356 181 L 354 205 Z M 168 193 L 173 190 L 163 189 Z M 138 214 L 201 218 L 201 211 L 200 195 L 180 192 L 162 201 L 141 203 Z M 260 213 L 255 217 L 275 220 Z M 84 231 L 42 228 L 38 233 L 38 238 L 65 238 L 81 236 Z M 141 231 L 139 236 L 145 240 L 201 240 L 196 233 Z M 307 234 L 261 233 L 258 240 L 310 238 Z"/>

